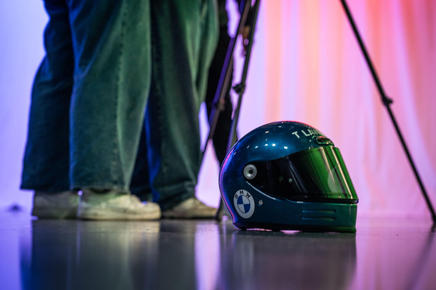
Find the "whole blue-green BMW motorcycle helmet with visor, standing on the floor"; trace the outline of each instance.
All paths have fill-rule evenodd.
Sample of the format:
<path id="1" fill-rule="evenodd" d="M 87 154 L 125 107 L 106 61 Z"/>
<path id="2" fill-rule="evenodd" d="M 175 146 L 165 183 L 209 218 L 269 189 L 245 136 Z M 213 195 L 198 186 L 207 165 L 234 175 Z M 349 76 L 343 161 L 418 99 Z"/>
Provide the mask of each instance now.
<path id="1" fill-rule="evenodd" d="M 238 228 L 356 232 L 358 197 L 341 153 L 307 124 L 269 123 L 242 137 L 219 186 Z"/>

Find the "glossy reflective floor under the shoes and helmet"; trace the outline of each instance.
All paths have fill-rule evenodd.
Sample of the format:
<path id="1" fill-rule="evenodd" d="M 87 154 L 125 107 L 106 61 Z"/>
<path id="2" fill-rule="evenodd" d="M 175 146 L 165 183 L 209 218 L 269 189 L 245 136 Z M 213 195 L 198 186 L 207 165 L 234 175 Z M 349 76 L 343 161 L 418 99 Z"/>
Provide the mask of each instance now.
<path id="1" fill-rule="evenodd" d="M 1 289 L 436 289 L 430 220 L 357 233 L 238 231 L 229 220 L 34 220 L 0 211 Z"/>

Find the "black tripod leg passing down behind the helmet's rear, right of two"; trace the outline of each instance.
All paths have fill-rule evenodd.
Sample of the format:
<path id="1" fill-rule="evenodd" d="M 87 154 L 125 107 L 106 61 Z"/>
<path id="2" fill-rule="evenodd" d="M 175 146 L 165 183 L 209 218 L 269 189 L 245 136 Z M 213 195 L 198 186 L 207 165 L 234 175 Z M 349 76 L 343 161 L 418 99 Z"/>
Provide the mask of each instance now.
<path id="1" fill-rule="evenodd" d="M 252 22 L 250 25 L 250 34 L 249 34 L 249 42 L 247 45 L 246 53 L 245 53 L 245 62 L 244 62 L 244 70 L 242 71 L 242 77 L 241 82 L 234 87 L 235 91 L 239 94 L 238 97 L 238 105 L 236 106 L 235 113 L 233 115 L 232 119 L 232 127 L 230 129 L 230 135 L 228 137 L 228 143 L 227 143 L 227 153 L 230 151 L 230 149 L 235 145 L 236 143 L 236 125 L 238 124 L 238 118 L 239 118 L 239 111 L 241 109 L 241 103 L 242 103 L 242 95 L 245 91 L 245 79 L 247 78 L 247 72 L 248 72 L 248 66 L 250 62 L 250 54 L 251 54 L 251 48 L 253 45 L 253 38 L 254 38 L 254 31 L 256 27 L 256 20 L 257 20 L 257 13 L 259 11 L 259 3 L 260 0 L 256 0 L 253 6 L 253 17 Z M 222 216 L 224 215 L 224 205 L 222 198 L 220 199 L 219 207 L 217 210 L 217 213 L 215 214 L 215 220 L 221 220 Z"/>

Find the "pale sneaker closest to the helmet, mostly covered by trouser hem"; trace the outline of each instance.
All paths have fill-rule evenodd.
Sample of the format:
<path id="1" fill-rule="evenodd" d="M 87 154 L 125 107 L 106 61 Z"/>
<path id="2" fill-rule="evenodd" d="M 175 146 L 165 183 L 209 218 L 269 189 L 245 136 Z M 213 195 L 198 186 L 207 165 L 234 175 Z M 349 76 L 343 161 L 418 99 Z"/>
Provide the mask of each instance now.
<path id="1" fill-rule="evenodd" d="M 165 210 L 162 213 L 163 217 L 169 218 L 182 218 L 182 219 L 193 219 L 193 218 L 206 218 L 210 219 L 215 216 L 215 207 L 209 207 L 198 200 L 196 197 L 191 197 L 170 210 Z"/>

